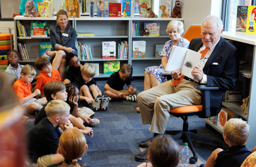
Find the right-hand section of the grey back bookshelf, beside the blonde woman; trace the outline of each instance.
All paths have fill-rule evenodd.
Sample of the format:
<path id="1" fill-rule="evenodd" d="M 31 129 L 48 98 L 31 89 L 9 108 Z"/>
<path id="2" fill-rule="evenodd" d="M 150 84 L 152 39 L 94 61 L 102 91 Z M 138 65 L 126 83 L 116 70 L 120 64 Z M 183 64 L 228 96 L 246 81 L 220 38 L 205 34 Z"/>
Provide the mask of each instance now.
<path id="1" fill-rule="evenodd" d="M 182 18 L 131 18 L 131 41 L 130 41 L 130 64 L 133 67 L 133 76 L 144 76 L 144 69 L 150 66 L 159 66 L 161 64 L 161 57 L 155 57 L 155 45 L 164 45 L 170 40 L 166 32 L 167 24 L 171 20 L 180 20 Z M 160 23 L 160 36 L 132 36 L 132 24 L 139 24 L 140 35 L 144 31 L 144 23 Z M 146 41 L 145 58 L 132 58 L 132 42 Z"/>

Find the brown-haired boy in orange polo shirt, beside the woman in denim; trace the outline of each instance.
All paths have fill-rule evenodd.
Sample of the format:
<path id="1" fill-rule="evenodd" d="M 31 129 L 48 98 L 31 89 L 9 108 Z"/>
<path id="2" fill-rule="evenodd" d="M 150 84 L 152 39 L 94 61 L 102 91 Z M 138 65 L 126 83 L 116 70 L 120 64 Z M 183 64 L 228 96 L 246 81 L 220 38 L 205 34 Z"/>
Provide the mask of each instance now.
<path id="1" fill-rule="evenodd" d="M 45 84 L 51 81 L 60 81 L 61 78 L 59 75 L 59 71 L 53 69 L 51 67 L 50 60 L 48 60 L 44 56 L 36 58 L 35 66 L 39 71 L 41 71 L 41 73 L 36 78 L 36 89 L 39 89 L 41 91 L 40 96 L 42 96 L 42 94 L 44 93 Z"/>

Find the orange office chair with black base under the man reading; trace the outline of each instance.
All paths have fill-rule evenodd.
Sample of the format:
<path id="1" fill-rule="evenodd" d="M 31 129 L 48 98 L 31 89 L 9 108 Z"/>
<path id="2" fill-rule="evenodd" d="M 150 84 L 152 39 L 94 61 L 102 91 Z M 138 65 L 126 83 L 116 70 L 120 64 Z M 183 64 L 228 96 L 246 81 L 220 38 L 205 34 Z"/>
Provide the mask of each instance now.
<path id="1" fill-rule="evenodd" d="M 160 74 L 160 76 L 171 77 L 171 74 Z M 187 105 L 171 109 L 169 112 L 171 115 L 180 117 L 183 120 L 183 129 L 181 131 L 165 131 L 167 134 L 173 135 L 173 140 L 181 139 L 183 143 L 188 143 L 188 146 L 193 153 L 193 157 L 189 158 L 190 164 L 195 164 L 197 162 L 197 154 L 191 142 L 191 139 L 216 144 L 220 148 L 222 147 L 221 142 L 198 135 L 196 129 L 188 130 L 188 116 L 198 115 L 200 118 L 207 118 L 209 116 L 213 116 L 210 115 L 210 91 L 219 89 L 219 87 L 207 85 L 196 85 L 195 88 L 199 89 L 202 92 L 203 104 Z"/>

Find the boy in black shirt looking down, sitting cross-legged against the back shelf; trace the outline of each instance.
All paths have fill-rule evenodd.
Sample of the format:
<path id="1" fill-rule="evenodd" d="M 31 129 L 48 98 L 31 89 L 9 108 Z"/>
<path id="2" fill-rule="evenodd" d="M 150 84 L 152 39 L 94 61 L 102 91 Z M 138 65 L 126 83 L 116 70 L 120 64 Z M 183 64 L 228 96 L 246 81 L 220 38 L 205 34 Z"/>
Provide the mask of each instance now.
<path id="1" fill-rule="evenodd" d="M 136 101 L 136 89 L 132 87 L 131 77 L 132 66 L 123 64 L 121 69 L 113 73 L 104 86 L 105 94 L 112 99 L 126 99 L 128 101 Z M 124 89 L 124 84 L 128 89 Z"/>

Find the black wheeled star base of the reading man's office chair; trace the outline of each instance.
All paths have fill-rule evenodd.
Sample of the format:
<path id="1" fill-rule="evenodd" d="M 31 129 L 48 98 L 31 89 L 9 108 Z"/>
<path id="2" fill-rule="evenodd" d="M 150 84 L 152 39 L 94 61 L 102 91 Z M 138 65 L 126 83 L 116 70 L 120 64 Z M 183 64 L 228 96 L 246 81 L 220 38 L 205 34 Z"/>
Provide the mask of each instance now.
<path id="1" fill-rule="evenodd" d="M 197 133 L 196 129 L 189 130 L 189 131 L 165 131 L 167 134 L 173 135 L 173 140 L 182 140 L 184 143 L 188 143 L 188 146 L 193 153 L 193 157 L 189 158 L 190 164 L 195 164 L 197 162 L 197 153 L 196 150 L 191 142 L 191 139 L 201 141 L 201 142 L 207 142 L 218 145 L 220 148 L 222 148 L 221 142 L 218 142 L 216 140 L 211 140 L 207 137 L 200 136 Z"/>

